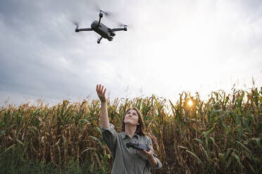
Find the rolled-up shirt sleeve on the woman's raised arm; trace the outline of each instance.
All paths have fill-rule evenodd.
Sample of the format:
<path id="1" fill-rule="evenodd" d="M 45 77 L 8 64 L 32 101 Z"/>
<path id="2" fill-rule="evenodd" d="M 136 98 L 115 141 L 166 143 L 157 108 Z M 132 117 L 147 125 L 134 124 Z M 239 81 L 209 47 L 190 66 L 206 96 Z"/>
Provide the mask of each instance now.
<path id="1" fill-rule="evenodd" d="M 113 126 L 113 124 L 109 123 L 109 127 L 106 128 L 104 126 L 100 126 L 101 128 L 101 134 L 102 134 L 102 140 L 106 142 L 106 145 L 110 149 L 113 158 L 115 158 L 116 154 L 116 143 L 117 143 L 117 135 L 116 130 Z"/>

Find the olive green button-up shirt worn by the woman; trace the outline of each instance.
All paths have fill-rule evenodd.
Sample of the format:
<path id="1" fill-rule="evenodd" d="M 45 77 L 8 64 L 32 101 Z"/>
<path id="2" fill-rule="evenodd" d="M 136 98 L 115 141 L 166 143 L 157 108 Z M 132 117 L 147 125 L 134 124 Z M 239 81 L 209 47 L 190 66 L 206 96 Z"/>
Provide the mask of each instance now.
<path id="1" fill-rule="evenodd" d="M 127 142 L 139 142 L 152 147 L 151 139 L 146 135 L 135 135 L 130 138 L 124 131 L 117 133 L 113 124 L 110 123 L 109 128 L 101 126 L 102 139 L 113 155 L 114 162 L 111 170 L 112 174 L 148 174 L 150 172 L 150 164 L 146 156 L 141 154 L 137 149 L 127 148 Z M 155 168 L 161 168 L 162 163 L 156 157 L 153 149 L 153 155 L 158 162 Z"/>

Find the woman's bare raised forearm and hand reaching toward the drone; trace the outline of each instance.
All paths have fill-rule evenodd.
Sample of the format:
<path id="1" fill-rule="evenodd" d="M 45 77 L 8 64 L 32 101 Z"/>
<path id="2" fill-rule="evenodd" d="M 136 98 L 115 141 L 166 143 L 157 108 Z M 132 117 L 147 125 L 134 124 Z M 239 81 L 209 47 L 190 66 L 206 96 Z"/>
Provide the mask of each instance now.
<path id="1" fill-rule="evenodd" d="M 96 85 L 96 93 L 99 96 L 99 99 L 101 101 L 101 125 L 109 128 L 109 120 L 108 120 L 108 114 L 107 114 L 107 105 L 106 105 L 106 88 L 104 89 L 104 86 Z"/>

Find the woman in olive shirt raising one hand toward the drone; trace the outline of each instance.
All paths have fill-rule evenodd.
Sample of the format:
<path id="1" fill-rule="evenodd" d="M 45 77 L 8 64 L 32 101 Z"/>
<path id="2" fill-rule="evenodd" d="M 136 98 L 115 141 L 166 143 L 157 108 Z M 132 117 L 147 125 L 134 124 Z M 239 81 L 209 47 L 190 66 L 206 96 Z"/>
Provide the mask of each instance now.
<path id="1" fill-rule="evenodd" d="M 101 133 L 102 139 L 114 158 L 111 173 L 151 173 L 150 168 L 161 168 L 162 163 L 156 157 L 151 139 L 144 133 L 144 121 L 141 113 L 135 107 L 127 110 L 123 117 L 123 131 L 117 133 L 108 121 L 106 106 L 106 88 L 96 85 L 96 92 L 101 101 Z M 127 148 L 128 142 L 139 142 L 150 147 L 146 150 Z"/>

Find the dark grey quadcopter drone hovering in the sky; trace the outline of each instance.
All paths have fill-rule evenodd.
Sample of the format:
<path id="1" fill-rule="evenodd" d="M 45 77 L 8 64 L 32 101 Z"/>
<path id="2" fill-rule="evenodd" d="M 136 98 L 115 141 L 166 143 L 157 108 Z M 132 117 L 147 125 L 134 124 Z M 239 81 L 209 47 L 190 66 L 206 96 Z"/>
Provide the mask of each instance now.
<path id="1" fill-rule="evenodd" d="M 91 24 L 91 28 L 78 28 L 78 25 L 75 28 L 75 32 L 84 32 L 84 31 L 94 31 L 99 34 L 101 37 L 97 39 L 97 44 L 100 44 L 101 39 L 108 39 L 108 41 L 113 41 L 113 36 L 116 36 L 115 32 L 118 31 L 127 31 L 127 25 L 124 25 L 123 28 L 108 28 L 106 25 L 101 23 L 101 18 L 103 15 L 107 15 L 104 11 L 99 11 L 99 21 L 95 20 Z"/>

